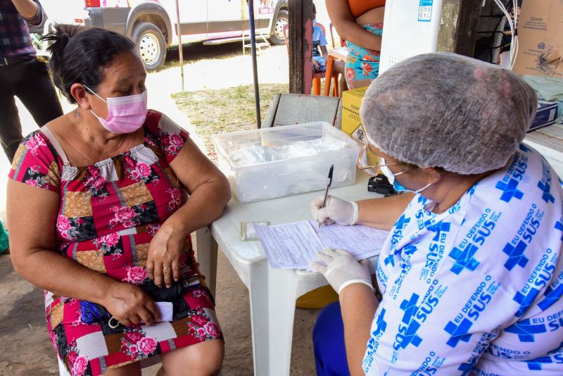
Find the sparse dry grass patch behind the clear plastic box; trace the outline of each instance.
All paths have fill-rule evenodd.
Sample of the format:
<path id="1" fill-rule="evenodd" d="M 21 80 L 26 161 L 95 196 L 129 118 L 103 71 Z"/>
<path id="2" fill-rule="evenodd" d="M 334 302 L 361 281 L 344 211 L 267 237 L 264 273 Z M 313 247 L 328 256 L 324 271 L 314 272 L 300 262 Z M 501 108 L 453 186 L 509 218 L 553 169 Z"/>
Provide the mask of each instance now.
<path id="1" fill-rule="evenodd" d="M 286 93 L 288 89 L 287 84 L 260 84 L 262 120 L 274 95 Z M 172 94 L 172 99 L 196 128 L 214 163 L 217 161 L 217 154 L 211 142 L 213 134 L 256 129 L 253 85 L 180 92 Z"/>

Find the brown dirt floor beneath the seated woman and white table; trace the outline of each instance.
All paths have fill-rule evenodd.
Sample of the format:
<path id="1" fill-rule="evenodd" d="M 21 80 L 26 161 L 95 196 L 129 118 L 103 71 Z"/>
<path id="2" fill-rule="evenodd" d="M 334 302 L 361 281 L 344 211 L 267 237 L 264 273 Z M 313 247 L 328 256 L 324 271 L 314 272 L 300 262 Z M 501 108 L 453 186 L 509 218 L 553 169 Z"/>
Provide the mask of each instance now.
<path id="1" fill-rule="evenodd" d="M 56 353 L 47 334 L 43 291 L 23 280 L 9 255 L 0 255 L 0 375 L 58 375 Z M 225 337 L 222 375 L 253 375 L 248 290 L 220 253 L 217 263 L 216 311 Z M 297 309 L 293 325 L 291 375 L 315 375 L 312 326 L 318 310 Z M 143 370 L 153 376 L 160 366 Z"/>

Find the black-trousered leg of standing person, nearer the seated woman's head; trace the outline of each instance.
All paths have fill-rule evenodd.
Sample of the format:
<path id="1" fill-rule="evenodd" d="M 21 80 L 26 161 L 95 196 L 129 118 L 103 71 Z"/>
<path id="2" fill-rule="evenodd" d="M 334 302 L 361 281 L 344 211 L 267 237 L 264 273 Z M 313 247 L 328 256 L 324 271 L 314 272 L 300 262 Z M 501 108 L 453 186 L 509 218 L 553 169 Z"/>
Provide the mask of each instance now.
<path id="1" fill-rule="evenodd" d="M 15 95 L 30 111 L 35 123 L 42 127 L 51 120 L 63 115 L 61 102 L 49 77 L 49 70 L 42 61 L 33 59 L 22 63 L 25 77 L 15 84 Z"/>

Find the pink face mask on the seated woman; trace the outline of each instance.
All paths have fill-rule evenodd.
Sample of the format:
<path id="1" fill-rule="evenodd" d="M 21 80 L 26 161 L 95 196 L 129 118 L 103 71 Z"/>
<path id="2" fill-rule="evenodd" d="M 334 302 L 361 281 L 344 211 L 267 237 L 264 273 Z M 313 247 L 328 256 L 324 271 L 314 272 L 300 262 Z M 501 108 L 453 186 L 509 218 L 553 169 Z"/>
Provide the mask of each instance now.
<path id="1" fill-rule="evenodd" d="M 108 117 L 105 119 L 100 118 L 94 111 L 90 110 L 108 132 L 131 133 L 138 130 L 144 124 L 147 109 L 146 90 L 141 94 L 118 96 L 104 100 L 86 85 L 84 87 L 108 104 Z"/>

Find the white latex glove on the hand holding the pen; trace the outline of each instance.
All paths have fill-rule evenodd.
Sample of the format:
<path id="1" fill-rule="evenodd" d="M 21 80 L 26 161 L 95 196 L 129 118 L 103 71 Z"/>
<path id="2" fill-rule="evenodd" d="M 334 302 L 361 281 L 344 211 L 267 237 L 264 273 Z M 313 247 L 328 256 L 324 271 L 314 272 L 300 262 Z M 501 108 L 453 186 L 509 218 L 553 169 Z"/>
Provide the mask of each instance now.
<path id="1" fill-rule="evenodd" d="M 321 225 L 355 225 L 358 222 L 358 203 L 346 201 L 335 196 L 327 197 L 327 206 L 321 208 L 324 197 L 317 197 L 311 201 L 312 218 Z"/>

